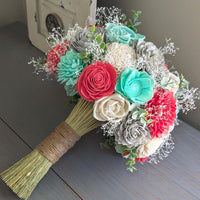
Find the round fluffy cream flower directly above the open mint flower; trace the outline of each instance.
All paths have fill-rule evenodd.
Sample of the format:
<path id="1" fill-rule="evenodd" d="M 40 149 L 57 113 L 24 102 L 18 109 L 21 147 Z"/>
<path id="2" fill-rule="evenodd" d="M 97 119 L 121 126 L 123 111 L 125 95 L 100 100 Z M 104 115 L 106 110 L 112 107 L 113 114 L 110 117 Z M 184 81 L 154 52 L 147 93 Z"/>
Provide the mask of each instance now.
<path id="1" fill-rule="evenodd" d="M 134 67 L 136 62 L 135 50 L 127 44 L 114 42 L 108 45 L 104 62 L 110 63 L 117 74 L 120 74 L 124 69 Z"/>

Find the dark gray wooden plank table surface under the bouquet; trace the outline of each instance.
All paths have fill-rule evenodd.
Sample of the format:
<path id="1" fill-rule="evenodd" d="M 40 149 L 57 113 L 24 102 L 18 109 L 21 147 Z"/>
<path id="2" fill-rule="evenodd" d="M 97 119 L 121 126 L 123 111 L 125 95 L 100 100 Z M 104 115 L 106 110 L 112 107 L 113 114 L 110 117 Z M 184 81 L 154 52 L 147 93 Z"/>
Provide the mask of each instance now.
<path id="1" fill-rule="evenodd" d="M 42 81 L 27 64 L 43 55 L 27 28 L 0 29 L 0 171 L 29 153 L 70 113 L 62 85 Z M 173 131 L 175 150 L 159 164 L 137 164 L 133 174 L 114 151 L 86 134 L 39 183 L 30 200 L 199 200 L 200 132 L 186 123 Z M 0 181 L 0 200 L 17 200 Z"/>

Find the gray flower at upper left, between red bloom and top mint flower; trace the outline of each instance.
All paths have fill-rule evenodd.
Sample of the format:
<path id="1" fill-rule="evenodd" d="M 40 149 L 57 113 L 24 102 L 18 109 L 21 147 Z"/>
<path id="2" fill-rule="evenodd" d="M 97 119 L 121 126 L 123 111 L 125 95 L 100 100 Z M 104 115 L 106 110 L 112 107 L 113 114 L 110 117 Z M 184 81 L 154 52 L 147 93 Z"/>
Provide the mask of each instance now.
<path id="1" fill-rule="evenodd" d="M 83 30 L 77 31 L 75 37 L 70 42 L 70 47 L 74 50 L 74 52 L 84 52 L 89 47 L 91 43 L 91 39 L 88 37 L 89 32 L 90 28 L 85 28 Z M 104 28 L 96 28 L 94 34 L 100 34 L 103 38 L 103 41 L 107 41 L 106 32 Z"/>

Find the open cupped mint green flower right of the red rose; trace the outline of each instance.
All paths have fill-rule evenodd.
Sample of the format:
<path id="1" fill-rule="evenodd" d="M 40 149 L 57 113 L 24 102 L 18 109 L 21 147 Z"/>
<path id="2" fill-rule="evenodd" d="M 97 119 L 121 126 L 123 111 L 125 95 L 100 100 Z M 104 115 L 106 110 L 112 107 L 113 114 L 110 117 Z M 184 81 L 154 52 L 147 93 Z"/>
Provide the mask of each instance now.
<path id="1" fill-rule="evenodd" d="M 153 97 L 154 81 L 146 72 L 127 68 L 118 76 L 115 91 L 132 103 L 145 104 Z"/>

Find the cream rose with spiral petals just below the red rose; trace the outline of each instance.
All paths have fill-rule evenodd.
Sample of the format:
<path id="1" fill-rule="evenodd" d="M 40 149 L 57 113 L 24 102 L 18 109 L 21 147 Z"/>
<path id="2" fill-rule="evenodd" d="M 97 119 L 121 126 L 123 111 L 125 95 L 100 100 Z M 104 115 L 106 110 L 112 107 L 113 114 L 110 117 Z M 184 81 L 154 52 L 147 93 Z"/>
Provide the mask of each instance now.
<path id="1" fill-rule="evenodd" d="M 129 108 L 129 101 L 115 93 L 95 101 L 93 116 L 99 121 L 116 122 L 128 114 Z"/>

